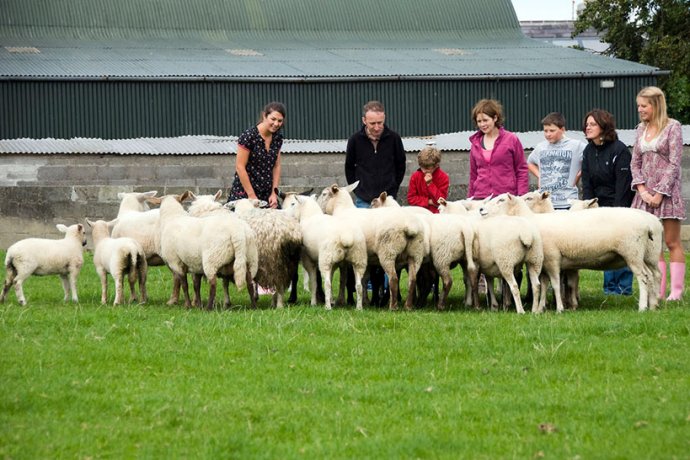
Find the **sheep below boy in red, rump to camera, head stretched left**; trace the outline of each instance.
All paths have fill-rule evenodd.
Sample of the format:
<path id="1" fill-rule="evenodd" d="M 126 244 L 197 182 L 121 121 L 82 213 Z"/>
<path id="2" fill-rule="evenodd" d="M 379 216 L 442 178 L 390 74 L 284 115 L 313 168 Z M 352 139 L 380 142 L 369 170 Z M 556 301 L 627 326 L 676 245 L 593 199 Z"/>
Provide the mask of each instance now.
<path id="1" fill-rule="evenodd" d="M 443 200 L 444 203 L 447 203 Z M 399 207 L 397 201 L 388 197 L 386 192 L 372 200 L 372 207 Z M 458 205 L 461 206 L 461 205 Z M 453 286 L 451 268 L 457 263 L 463 264 L 463 272 L 474 273 L 476 266 L 472 256 L 474 230 L 470 221 L 464 216 L 454 214 L 433 214 L 425 208 L 406 206 L 401 209 L 413 212 L 422 217 L 429 226 L 429 256 L 436 272 L 443 281 L 443 291 L 438 297 L 436 308 L 444 310 L 448 294 Z M 462 212 L 460 208 L 457 208 Z M 464 207 L 462 208 L 464 210 Z"/>

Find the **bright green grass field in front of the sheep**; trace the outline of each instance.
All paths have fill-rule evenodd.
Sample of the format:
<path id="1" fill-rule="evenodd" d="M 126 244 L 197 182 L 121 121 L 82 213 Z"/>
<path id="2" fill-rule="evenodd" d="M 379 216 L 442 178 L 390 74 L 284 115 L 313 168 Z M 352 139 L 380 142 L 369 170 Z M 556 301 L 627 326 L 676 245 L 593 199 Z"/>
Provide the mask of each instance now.
<path id="1" fill-rule="evenodd" d="M 89 259 L 79 304 L 34 277 L 0 305 L 0 456 L 690 458 L 690 308 L 581 274 L 562 315 L 468 310 L 461 283 L 445 312 L 208 312 L 165 305 L 160 268 L 147 305 L 101 306 Z"/>

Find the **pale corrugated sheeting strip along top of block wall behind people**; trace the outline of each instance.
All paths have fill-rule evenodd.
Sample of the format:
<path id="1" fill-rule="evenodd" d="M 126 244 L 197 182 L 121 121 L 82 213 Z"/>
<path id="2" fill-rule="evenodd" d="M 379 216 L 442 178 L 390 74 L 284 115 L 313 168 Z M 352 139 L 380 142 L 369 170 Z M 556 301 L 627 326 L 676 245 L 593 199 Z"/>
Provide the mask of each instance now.
<path id="1" fill-rule="evenodd" d="M 403 138 L 405 150 L 415 152 L 433 143 L 441 150 L 467 151 L 474 131 Z M 580 131 L 568 131 L 568 137 L 585 140 Z M 525 149 L 533 149 L 544 140 L 544 133 L 517 133 Z M 618 130 L 620 140 L 631 146 L 635 130 Z M 684 145 L 690 145 L 690 125 L 683 126 Z M 347 140 L 286 139 L 283 153 L 344 153 Z M 237 137 L 181 136 L 139 139 L 5 139 L 0 140 L 1 154 L 113 154 L 113 155 L 226 155 L 237 152 Z"/>

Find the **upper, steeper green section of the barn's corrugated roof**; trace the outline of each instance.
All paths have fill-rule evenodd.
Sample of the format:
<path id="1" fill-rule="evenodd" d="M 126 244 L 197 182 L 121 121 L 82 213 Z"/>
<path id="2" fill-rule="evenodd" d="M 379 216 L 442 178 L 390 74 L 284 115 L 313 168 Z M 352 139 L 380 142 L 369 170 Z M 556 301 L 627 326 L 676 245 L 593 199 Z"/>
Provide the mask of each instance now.
<path id="1" fill-rule="evenodd" d="M 22 36 L 519 30 L 510 0 L 3 0 L 2 9 L 0 28 Z"/>

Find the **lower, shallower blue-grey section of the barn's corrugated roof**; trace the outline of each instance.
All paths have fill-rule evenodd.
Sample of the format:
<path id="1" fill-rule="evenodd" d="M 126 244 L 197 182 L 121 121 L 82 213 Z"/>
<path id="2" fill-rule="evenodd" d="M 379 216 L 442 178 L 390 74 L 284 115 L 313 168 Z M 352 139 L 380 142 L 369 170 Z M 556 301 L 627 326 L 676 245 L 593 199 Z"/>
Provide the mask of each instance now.
<path id="1" fill-rule="evenodd" d="M 0 77 L 45 79 L 318 79 L 318 78 L 477 78 L 516 76 L 649 75 L 658 69 L 634 62 L 561 48 L 528 38 L 511 41 L 458 40 L 451 37 L 398 45 L 365 42 L 346 47 L 335 42 L 200 43 L 171 40 L 164 47 L 144 42 L 117 46 L 52 40 L 5 40 Z M 401 45 L 404 43 L 404 45 Z M 40 53 L 17 54 L 9 46 L 33 46 Z M 235 55 L 226 50 L 253 50 Z M 446 50 L 457 50 L 446 54 Z M 548 65 L 545 65 L 548 63 Z"/>

